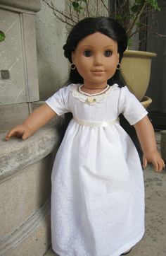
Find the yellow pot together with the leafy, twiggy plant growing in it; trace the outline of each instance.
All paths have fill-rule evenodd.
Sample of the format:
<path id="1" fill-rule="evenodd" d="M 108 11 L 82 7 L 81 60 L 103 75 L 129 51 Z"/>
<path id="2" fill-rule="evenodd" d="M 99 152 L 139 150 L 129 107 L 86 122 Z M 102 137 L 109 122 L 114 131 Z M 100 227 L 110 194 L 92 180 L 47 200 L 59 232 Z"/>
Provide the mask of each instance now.
<path id="1" fill-rule="evenodd" d="M 117 6 L 115 18 L 127 32 L 129 49 L 136 35 L 142 35 L 146 30 L 148 33 L 152 32 L 146 20 L 158 11 L 160 8 L 157 0 L 125 0 Z M 145 93 L 151 76 L 151 61 L 156 55 L 153 52 L 127 50 L 122 59 L 122 76 L 130 91 L 143 101 L 145 107 L 151 103 L 151 99 L 145 97 Z"/>

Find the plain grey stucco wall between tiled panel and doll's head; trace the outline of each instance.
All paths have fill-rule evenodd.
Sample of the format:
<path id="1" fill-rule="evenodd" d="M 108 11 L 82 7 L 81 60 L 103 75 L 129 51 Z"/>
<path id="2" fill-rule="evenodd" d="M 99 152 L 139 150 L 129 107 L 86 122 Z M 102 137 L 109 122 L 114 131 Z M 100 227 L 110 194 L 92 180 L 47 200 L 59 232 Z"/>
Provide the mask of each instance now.
<path id="1" fill-rule="evenodd" d="M 65 9 L 65 0 L 55 2 L 61 11 Z M 63 55 L 67 33 L 65 24 L 56 20 L 43 1 L 35 21 L 39 94 L 45 100 L 68 80 L 68 60 Z"/>

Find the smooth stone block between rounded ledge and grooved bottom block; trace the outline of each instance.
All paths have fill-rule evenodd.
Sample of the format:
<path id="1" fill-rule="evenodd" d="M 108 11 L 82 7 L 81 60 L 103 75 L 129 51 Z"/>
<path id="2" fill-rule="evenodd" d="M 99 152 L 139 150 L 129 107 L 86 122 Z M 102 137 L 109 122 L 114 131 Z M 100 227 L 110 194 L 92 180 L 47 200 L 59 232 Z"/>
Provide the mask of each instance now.
<path id="1" fill-rule="evenodd" d="M 51 155 L 0 182 L 1 238 L 14 233 L 51 194 Z"/>

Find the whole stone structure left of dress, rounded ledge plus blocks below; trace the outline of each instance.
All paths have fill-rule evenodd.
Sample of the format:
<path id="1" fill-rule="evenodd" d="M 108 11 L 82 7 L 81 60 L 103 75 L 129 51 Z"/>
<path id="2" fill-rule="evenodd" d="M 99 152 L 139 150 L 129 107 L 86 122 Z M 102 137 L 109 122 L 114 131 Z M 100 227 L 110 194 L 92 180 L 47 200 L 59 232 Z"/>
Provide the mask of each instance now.
<path id="1" fill-rule="evenodd" d="M 51 169 L 59 136 L 51 126 L 25 141 L 4 141 L 4 135 L 0 135 L 0 255 L 41 256 L 51 243 Z"/>

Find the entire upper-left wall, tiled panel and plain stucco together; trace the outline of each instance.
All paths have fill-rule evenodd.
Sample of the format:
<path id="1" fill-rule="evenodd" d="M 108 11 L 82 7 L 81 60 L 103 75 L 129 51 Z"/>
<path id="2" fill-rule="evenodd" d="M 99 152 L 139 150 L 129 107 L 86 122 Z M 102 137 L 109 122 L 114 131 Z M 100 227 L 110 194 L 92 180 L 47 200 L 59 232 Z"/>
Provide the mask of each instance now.
<path id="1" fill-rule="evenodd" d="M 57 4 L 63 11 L 65 1 Z M 0 73 L 1 133 L 23 122 L 32 102 L 45 100 L 63 86 L 68 61 L 63 57 L 65 25 L 43 1 L 0 0 L 0 23 L 6 33 L 0 44 L 0 70 L 9 74 L 3 79 Z"/>

